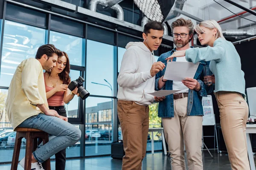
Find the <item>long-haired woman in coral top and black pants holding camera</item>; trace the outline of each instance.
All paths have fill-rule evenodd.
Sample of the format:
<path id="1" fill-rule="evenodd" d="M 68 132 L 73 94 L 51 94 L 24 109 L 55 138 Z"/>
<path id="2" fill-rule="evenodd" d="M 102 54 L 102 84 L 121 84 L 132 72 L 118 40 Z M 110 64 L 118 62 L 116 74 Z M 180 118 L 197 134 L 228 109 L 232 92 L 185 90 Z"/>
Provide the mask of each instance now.
<path id="1" fill-rule="evenodd" d="M 49 109 L 58 112 L 59 115 L 67 117 L 65 103 L 70 102 L 77 94 L 78 89 L 70 91 L 67 86 L 70 84 L 70 62 L 67 53 L 58 58 L 56 66 L 51 72 L 44 73 L 44 83 L 46 89 Z M 55 170 L 64 170 L 66 164 L 66 149 L 55 154 Z"/>

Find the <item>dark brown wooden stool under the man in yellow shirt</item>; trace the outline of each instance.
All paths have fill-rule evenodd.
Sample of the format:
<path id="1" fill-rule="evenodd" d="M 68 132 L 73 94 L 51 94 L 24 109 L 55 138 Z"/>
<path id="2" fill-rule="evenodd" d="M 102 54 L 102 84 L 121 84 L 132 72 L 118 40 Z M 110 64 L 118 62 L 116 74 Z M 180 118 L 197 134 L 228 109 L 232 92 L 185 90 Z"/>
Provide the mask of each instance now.
<path id="1" fill-rule="evenodd" d="M 11 170 L 17 170 L 19 156 L 20 156 L 20 145 L 21 145 L 21 139 L 26 139 L 26 153 L 25 153 L 25 168 L 24 170 L 31 170 L 31 156 L 33 151 L 38 146 L 38 138 L 43 139 L 43 144 L 46 144 L 49 141 L 48 133 L 38 130 L 38 129 L 32 129 L 32 128 L 23 128 L 23 127 L 17 127 L 15 129 L 17 132 L 16 139 L 15 139 L 15 145 L 13 150 L 13 156 L 12 156 L 12 167 Z M 44 162 L 45 170 L 51 170 L 51 164 L 50 159 L 47 159 Z"/>

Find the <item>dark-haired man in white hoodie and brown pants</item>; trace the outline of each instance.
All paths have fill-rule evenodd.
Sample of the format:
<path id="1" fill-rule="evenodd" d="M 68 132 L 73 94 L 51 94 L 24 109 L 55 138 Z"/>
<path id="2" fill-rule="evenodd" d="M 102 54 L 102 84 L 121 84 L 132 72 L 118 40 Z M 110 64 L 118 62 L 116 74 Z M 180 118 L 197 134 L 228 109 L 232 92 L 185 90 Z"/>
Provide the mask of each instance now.
<path id="1" fill-rule="evenodd" d="M 154 102 L 155 75 L 163 62 L 155 62 L 154 50 L 162 42 L 163 26 L 150 21 L 144 26 L 143 42 L 129 42 L 117 82 L 117 113 L 121 124 L 125 156 L 122 170 L 141 170 L 148 138 L 148 105 Z"/>

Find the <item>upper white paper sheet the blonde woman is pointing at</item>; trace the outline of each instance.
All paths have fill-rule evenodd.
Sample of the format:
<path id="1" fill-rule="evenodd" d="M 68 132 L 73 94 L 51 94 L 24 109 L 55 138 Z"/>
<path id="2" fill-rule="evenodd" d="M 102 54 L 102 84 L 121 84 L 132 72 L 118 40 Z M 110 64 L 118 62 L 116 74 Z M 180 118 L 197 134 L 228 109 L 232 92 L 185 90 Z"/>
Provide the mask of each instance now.
<path id="1" fill-rule="evenodd" d="M 179 81 L 186 77 L 194 78 L 199 62 L 167 62 L 164 79 Z"/>

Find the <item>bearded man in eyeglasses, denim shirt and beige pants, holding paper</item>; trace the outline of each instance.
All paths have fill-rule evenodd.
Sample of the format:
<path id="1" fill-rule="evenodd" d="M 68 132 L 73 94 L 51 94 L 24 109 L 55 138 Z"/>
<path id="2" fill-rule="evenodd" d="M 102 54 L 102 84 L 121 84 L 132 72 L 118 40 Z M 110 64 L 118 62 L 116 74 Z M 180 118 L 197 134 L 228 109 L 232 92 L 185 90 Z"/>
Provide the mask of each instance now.
<path id="1" fill-rule="evenodd" d="M 189 41 L 192 40 L 194 32 L 194 25 L 191 20 L 177 19 L 172 23 L 171 28 L 176 48 L 160 55 L 158 61 L 165 62 L 165 59 L 175 51 L 193 48 L 189 47 Z M 187 61 L 184 56 L 175 57 L 170 62 Z M 213 85 L 204 84 L 204 65 L 209 65 L 209 62 L 201 61 L 195 77 L 187 77 L 182 82 L 163 79 L 166 68 L 156 75 L 155 90 L 181 90 L 179 93 L 166 97 L 154 97 L 156 101 L 159 101 L 158 116 L 162 118 L 172 170 L 186 170 L 184 143 L 189 170 L 203 170 L 201 147 L 204 111 L 202 97 L 207 96 L 213 89 Z"/>

